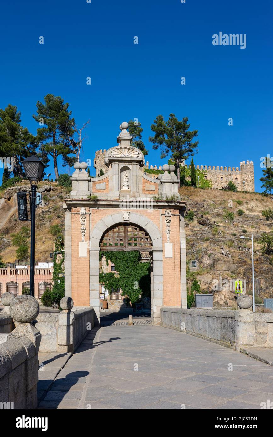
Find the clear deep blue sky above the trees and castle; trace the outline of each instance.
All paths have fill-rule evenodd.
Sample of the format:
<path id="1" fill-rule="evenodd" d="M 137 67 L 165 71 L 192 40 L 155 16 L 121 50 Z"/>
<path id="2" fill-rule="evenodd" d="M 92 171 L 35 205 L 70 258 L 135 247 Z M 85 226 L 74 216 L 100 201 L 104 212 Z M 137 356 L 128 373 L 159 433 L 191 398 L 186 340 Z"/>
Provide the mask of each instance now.
<path id="1" fill-rule="evenodd" d="M 90 119 L 82 160 L 91 162 L 95 150 L 116 145 L 122 121 L 138 118 L 153 165 L 166 162 L 148 142 L 154 118 L 186 116 L 199 132 L 195 164 L 253 160 L 261 191 L 260 158 L 273 155 L 272 13 L 269 0 L 6 2 L 0 108 L 17 105 L 35 134 L 36 102 L 60 95 L 77 125 Z M 246 48 L 212 45 L 220 31 L 246 34 Z M 59 172 L 66 171 L 59 159 Z"/>

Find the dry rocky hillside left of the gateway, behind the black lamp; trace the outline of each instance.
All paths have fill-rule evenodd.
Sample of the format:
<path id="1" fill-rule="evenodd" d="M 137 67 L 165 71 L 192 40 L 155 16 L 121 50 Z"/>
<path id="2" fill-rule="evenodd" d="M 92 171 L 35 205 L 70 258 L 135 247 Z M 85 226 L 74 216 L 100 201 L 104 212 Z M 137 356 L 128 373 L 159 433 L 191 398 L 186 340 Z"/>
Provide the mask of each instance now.
<path id="1" fill-rule="evenodd" d="M 4 198 L 0 199 L 0 256 L 4 262 L 14 262 L 16 259 L 17 247 L 11 244 L 11 234 L 19 232 L 22 226 L 30 228 L 30 222 L 18 220 L 18 191 L 29 191 L 28 181 L 8 188 L 3 193 Z M 41 182 L 37 191 L 42 193 L 43 201 L 36 208 L 35 256 L 47 257 L 54 248 L 50 226 L 57 224 L 64 229 L 63 199 L 68 196 L 69 189 L 58 187 L 55 182 Z"/>

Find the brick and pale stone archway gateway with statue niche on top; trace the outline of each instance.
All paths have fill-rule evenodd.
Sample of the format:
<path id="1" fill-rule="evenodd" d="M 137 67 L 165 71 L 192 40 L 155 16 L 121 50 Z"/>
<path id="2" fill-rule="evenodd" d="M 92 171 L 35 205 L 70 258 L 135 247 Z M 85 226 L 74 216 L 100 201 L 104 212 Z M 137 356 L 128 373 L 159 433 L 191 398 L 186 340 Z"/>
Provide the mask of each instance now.
<path id="1" fill-rule="evenodd" d="M 107 250 L 120 250 L 122 243 L 124 250 L 148 250 L 151 316 L 158 324 L 162 306 L 186 308 L 186 204 L 178 194 L 174 166 L 164 165 L 158 179 L 144 174 L 144 156 L 131 146 L 127 128 L 126 122 L 120 125 L 119 146 L 105 153 L 108 173 L 91 178 L 86 163 L 74 164 L 72 191 L 64 204 L 65 293 L 78 308 L 92 306 L 99 322 L 101 245 Z M 114 235 L 118 227 L 123 227 L 123 236 Z"/>

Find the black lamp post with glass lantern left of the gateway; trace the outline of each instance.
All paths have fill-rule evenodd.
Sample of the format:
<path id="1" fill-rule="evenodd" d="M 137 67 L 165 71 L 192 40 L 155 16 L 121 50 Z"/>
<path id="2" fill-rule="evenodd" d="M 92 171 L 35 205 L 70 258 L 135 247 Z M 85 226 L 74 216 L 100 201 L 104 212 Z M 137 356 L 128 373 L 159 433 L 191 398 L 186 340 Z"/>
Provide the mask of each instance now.
<path id="1" fill-rule="evenodd" d="M 22 162 L 27 179 L 31 184 L 31 235 L 30 235 L 30 295 L 34 297 L 34 268 L 35 268 L 35 209 L 36 209 L 36 189 L 38 182 L 42 179 L 45 165 L 36 156 L 36 153 L 31 153 Z"/>

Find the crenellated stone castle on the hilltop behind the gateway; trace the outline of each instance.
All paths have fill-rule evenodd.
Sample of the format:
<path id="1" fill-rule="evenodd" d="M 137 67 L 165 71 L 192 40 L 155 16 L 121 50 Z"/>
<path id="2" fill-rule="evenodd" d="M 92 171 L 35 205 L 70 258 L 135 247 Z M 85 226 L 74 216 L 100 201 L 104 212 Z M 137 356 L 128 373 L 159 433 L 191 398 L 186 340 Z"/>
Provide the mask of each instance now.
<path id="1" fill-rule="evenodd" d="M 100 170 L 104 173 L 107 173 L 108 168 L 105 165 L 105 153 L 106 150 L 97 150 L 95 153 L 95 159 L 94 159 L 94 167 L 96 169 L 96 177 L 99 176 Z M 190 165 L 187 166 L 187 164 L 184 164 L 186 168 L 190 169 Z M 195 168 L 197 170 L 202 171 L 204 179 L 210 181 L 211 188 L 215 189 L 221 189 L 228 185 L 228 182 L 231 181 L 233 184 L 236 185 L 238 191 L 249 191 L 254 192 L 254 164 L 253 161 L 242 161 L 240 162 L 240 169 L 239 167 L 223 167 L 223 166 L 199 166 L 195 165 Z M 161 166 L 153 166 L 150 165 L 149 162 L 146 162 L 146 165 L 142 167 L 142 171 L 149 170 L 149 174 L 152 175 L 155 179 L 158 178 L 158 171 L 155 171 L 154 173 L 151 172 L 151 170 L 161 170 L 162 173 L 164 171 L 162 170 Z M 187 179 L 190 180 L 190 176 L 187 176 Z"/>

